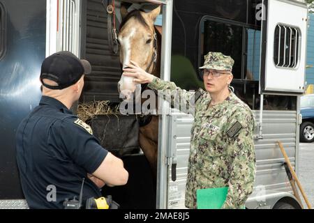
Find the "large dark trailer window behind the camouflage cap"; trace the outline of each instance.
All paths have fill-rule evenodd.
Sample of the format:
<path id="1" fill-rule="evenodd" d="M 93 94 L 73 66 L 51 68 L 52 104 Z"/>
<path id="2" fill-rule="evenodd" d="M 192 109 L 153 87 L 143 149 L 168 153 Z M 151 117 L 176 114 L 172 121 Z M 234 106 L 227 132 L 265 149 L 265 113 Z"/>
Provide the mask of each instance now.
<path id="1" fill-rule="evenodd" d="M 204 63 L 207 52 L 222 52 L 234 59 L 234 79 L 256 81 L 260 77 L 260 26 L 251 26 L 204 17 L 200 23 L 200 58 Z"/>

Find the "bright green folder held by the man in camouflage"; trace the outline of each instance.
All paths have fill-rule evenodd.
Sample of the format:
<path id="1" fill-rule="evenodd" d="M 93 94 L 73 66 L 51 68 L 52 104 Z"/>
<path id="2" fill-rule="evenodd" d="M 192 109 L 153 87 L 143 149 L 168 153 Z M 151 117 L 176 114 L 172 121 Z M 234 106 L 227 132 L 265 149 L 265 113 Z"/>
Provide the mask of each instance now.
<path id="1" fill-rule="evenodd" d="M 197 209 L 220 209 L 227 198 L 228 187 L 196 190 Z"/>

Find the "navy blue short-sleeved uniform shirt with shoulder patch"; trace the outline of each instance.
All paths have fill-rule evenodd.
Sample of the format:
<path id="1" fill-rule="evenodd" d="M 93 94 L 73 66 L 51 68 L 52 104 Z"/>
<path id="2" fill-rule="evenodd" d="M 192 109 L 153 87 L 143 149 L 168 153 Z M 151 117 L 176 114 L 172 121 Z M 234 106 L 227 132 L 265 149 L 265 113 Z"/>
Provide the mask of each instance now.
<path id="1" fill-rule="evenodd" d="M 83 202 L 101 197 L 87 173 L 94 173 L 108 152 L 89 125 L 59 100 L 43 96 L 20 123 L 16 141 L 22 190 L 29 208 L 63 208 L 66 198 L 79 197 L 83 178 Z"/>

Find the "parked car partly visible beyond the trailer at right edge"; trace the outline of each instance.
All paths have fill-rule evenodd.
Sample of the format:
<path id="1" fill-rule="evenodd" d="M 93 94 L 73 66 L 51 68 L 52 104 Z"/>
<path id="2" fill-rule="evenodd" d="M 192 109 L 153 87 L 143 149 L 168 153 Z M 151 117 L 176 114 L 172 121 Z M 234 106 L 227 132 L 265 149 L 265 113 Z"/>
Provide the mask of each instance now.
<path id="1" fill-rule="evenodd" d="M 302 123 L 300 125 L 300 141 L 314 141 L 314 94 L 301 96 L 300 112 Z"/>

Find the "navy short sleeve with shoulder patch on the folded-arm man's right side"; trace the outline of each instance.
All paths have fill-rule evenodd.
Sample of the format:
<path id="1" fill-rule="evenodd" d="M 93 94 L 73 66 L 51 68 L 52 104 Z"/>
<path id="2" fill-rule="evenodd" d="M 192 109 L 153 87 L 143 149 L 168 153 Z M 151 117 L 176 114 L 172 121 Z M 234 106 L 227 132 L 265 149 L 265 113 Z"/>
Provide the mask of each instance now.
<path id="1" fill-rule="evenodd" d="M 63 146 L 75 164 L 92 174 L 103 162 L 108 151 L 100 146 L 90 131 L 77 125 L 75 121 L 75 118 L 65 118 L 59 128 L 54 128 L 54 134 L 58 135 L 60 146 Z"/>

